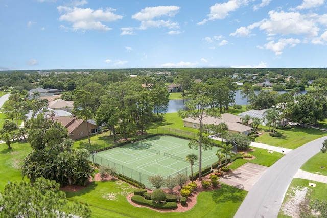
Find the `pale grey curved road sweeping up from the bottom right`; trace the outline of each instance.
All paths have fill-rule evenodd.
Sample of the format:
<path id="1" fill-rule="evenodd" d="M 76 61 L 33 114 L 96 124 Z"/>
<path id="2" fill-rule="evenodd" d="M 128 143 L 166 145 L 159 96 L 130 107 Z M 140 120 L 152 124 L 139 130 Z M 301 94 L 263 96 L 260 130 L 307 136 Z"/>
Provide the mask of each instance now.
<path id="1" fill-rule="evenodd" d="M 234 218 L 275 218 L 298 169 L 322 148 L 324 137 L 294 149 L 270 166 L 248 192 Z"/>

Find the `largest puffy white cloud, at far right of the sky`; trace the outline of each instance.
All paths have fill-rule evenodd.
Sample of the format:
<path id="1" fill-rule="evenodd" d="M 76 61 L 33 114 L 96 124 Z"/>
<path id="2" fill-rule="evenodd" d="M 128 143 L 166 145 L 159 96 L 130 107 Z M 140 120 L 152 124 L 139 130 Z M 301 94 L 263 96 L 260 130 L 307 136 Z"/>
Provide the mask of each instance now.
<path id="1" fill-rule="evenodd" d="M 270 20 L 263 20 L 261 30 L 265 30 L 268 36 L 276 34 L 305 34 L 307 37 L 318 35 L 319 28 L 316 26 L 316 14 L 300 14 L 298 12 L 269 11 Z"/>

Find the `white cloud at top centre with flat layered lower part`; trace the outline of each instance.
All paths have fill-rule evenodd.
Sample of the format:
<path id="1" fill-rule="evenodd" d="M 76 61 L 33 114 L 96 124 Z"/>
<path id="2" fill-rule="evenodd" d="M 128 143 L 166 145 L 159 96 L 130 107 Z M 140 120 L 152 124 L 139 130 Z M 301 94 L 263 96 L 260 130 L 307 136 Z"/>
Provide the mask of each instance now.
<path id="1" fill-rule="evenodd" d="M 166 27 L 169 29 L 179 28 L 177 22 L 171 20 L 163 20 L 161 17 L 174 17 L 179 12 L 180 7 L 178 6 L 157 6 L 157 7 L 146 7 L 132 15 L 133 19 L 141 21 L 140 29 L 146 30 L 148 28 L 161 28 Z"/>

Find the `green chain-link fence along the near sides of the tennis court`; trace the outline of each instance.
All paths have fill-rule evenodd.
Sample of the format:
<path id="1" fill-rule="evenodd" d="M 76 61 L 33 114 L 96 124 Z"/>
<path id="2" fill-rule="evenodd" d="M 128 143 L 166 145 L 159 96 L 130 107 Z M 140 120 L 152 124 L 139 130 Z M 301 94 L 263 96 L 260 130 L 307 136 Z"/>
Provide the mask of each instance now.
<path id="1" fill-rule="evenodd" d="M 117 174 L 123 174 L 124 176 L 132 178 L 136 181 L 139 181 L 139 182 L 143 183 L 146 188 L 149 188 L 149 189 L 154 188 L 151 186 L 151 184 L 149 182 L 149 178 L 151 177 L 150 175 L 141 173 L 141 172 L 136 171 L 135 169 L 129 168 L 127 166 L 123 166 L 121 164 L 112 162 L 106 158 L 98 156 L 96 153 L 91 154 L 89 156 L 89 160 L 94 163 L 97 163 L 99 165 L 114 167 L 116 169 Z M 161 176 L 164 176 L 167 179 L 167 178 L 174 177 L 178 174 L 185 174 L 186 176 L 191 175 L 191 167 L 186 167 L 186 168 L 181 169 L 180 171 L 175 172 L 174 174 L 171 174 L 171 175 L 166 175 L 166 176 L 161 175 Z M 166 187 L 163 186 L 163 188 L 166 188 Z"/>

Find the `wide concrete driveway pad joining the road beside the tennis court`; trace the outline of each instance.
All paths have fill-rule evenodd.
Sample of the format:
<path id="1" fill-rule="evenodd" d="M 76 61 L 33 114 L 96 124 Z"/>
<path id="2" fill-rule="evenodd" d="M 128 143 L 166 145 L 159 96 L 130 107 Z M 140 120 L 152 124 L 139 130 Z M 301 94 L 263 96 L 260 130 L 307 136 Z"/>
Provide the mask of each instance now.
<path id="1" fill-rule="evenodd" d="M 266 169 L 268 167 L 247 162 L 220 178 L 219 182 L 249 191 Z"/>

